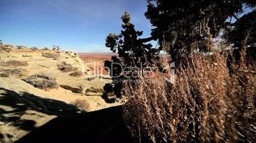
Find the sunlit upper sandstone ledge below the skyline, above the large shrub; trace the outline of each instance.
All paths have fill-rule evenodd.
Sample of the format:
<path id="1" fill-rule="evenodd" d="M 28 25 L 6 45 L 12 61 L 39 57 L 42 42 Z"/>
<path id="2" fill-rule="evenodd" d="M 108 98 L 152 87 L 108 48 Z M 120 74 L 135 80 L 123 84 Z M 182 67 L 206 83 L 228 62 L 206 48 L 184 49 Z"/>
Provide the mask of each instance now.
<path id="1" fill-rule="evenodd" d="M 32 51 L 31 49 L 15 49 L 8 52 L 0 51 L 0 63 L 10 60 L 25 61 L 28 63 L 28 66 L 22 67 L 22 70 L 24 69 L 29 72 L 23 77 L 20 76 L 20 78 L 36 73 L 44 73 L 56 78 L 60 87 L 82 95 L 85 95 L 85 91 L 92 86 L 97 86 L 99 89 L 103 89 L 104 86 L 103 80 L 96 78 L 92 78 L 91 80 L 87 79 L 88 77 L 92 77 L 89 72 L 90 68 L 85 66 L 82 59 L 73 52 L 51 50 Z M 71 65 L 78 71 L 86 71 L 86 74 L 81 77 L 72 77 L 69 75 L 71 71 L 63 72 L 59 70 L 58 65 L 61 65 L 62 63 Z M 2 72 L 6 69 L 3 66 L 0 68 L 2 69 Z"/>

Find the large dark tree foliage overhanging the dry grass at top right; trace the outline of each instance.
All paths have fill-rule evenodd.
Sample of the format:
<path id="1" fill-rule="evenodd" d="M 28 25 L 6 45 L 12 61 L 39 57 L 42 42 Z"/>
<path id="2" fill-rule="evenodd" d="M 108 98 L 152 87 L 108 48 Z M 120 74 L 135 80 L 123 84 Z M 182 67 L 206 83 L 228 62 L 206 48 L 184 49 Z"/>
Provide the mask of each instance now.
<path id="1" fill-rule="evenodd" d="M 148 0 L 145 16 L 155 27 L 152 37 L 159 41 L 160 50 L 165 35 L 169 54 L 178 64 L 194 51 L 212 51 L 213 38 L 231 24 L 227 18 L 237 18 L 243 6 L 255 4 L 253 0 Z"/>

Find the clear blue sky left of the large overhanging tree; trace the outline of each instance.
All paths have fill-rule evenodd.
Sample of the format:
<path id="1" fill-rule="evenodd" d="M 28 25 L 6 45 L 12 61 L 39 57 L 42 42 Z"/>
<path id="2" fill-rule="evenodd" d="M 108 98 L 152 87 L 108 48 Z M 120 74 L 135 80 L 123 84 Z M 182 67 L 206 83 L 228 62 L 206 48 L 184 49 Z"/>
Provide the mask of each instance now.
<path id="1" fill-rule="evenodd" d="M 105 38 L 120 32 L 124 11 L 148 37 L 146 0 L 0 0 L 0 39 L 29 47 L 55 44 L 67 51 L 111 52 Z"/>

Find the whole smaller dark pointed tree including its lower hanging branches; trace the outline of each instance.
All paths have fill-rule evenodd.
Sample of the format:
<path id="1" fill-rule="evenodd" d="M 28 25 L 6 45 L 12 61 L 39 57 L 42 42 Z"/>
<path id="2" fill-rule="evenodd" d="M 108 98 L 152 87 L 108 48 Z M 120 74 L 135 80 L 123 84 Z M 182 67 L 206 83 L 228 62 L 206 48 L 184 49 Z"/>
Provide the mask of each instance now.
<path id="1" fill-rule="evenodd" d="M 155 61 L 159 59 L 159 49 L 155 49 L 152 47 L 152 44 L 146 43 L 152 40 L 152 38 L 139 38 L 143 32 L 135 30 L 134 25 L 131 23 L 131 16 L 127 11 L 125 11 L 121 19 L 124 22 L 121 33 L 109 34 L 106 37 L 106 47 L 109 47 L 113 53 L 117 52 L 119 58 L 112 56 L 111 61 L 105 61 L 104 63 L 104 66 L 113 69 L 110 73 L 115 76 L 113 80 L 116 83 L 106 84 L 104 89 L 106 92 L 115 92 L 118 98 L 121 97 L 120 90 L 122 89 L 122 80 L 124 79 L 120 65 L 123 68 L 127 66 L 141 68 L 141 66 L 155 65 Z M 118 63 L 120 65 L 112 65 L 112 63 Z M 114 101 L 108 100 L 106 94 L 104 94 L 103 98 L 109 102 Z"/>

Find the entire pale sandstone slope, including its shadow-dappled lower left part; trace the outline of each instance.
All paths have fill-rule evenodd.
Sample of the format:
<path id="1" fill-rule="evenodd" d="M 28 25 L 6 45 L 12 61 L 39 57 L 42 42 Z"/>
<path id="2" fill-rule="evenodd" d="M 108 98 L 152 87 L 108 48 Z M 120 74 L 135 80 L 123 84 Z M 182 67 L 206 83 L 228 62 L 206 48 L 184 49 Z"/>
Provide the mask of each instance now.
<path id="1" fill-rule="evenodd" d="M 62 63 L 71 70 L 60 70 Z M 73 70 L 85 74 L 73 77 L 69 75 Z M 55 78 L 60 87 L 38 89 L 21 80 L 38 73 Z M 57 116 L 85 113 L 72 104 L 77 99 L 89 103 L 89 111 L 121 104 L 108 104 L 101 97 L 109 79 L 92 77 L 90 68 L 73 52 L 1 45 L 0 142 L 14 142 Z"/>

